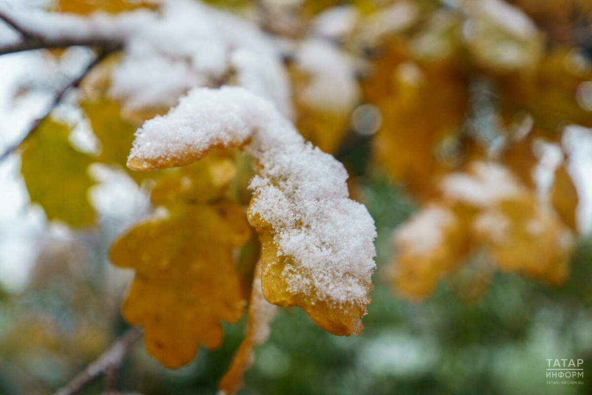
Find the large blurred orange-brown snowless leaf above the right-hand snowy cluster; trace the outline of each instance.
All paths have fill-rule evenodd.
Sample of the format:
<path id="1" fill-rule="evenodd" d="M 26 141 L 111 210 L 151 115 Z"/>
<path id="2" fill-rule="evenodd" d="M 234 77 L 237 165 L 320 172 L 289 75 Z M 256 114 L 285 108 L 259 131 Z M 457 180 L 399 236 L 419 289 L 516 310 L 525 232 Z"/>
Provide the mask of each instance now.
<path id="1" fill-rule="evenodd" d="M 413 62 L 401 44 L 387 51 L 364 85 L 366 98 L 382 112 L 375 158 L 411 192 L 429 196 L 450 166 L 438 144 L 458 133 L 465 117 L 464 78 L 450 63 Z"/>

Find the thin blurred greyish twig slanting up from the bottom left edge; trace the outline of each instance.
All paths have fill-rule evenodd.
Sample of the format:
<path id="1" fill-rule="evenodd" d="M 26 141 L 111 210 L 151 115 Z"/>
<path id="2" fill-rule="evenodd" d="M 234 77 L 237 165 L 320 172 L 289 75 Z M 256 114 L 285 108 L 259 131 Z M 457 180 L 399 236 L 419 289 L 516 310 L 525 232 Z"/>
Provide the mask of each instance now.
<path id="1" fill-rule="evenodd" d="M 85 370 L 77 374 L 66 386 L 57 390 L 54 395 L 72 395 L 81 390 L 89 381 L 98 377 L 111 367 L 121 365 L 123 358 L 131 346 L 140 339 L 142 329 L 132 327 L 126 333 L 120 336 L 103 354 L 99 355 L 94 362 L 86 367 Z"/>

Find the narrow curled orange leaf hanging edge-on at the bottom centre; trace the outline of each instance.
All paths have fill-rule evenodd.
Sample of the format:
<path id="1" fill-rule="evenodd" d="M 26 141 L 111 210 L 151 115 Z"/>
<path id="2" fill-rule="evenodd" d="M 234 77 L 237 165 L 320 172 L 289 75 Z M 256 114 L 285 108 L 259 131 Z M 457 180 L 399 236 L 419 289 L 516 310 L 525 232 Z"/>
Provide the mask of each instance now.
<path id="1" fill-rule="evenodd" d="M 255 267 L 252 293 L 249 301 L 249 326 L 230 367 L 218 383 L 218 395 L 234 395 L 243 387 L 243 375 L 253 364 L 255 346 L 269 337 L 269 324 L 278 308 L 269 303 L 261 292 L 261 264 Z"/>

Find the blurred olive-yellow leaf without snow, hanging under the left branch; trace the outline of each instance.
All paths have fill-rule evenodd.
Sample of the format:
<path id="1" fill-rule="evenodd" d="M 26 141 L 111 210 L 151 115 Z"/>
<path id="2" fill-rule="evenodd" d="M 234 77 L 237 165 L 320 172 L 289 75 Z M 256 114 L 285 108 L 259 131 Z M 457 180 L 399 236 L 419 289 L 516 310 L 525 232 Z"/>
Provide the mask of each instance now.
<path id="1" fill-rule="evenodd" d="M 49 220 L 71 226 L 94 223 L 95 211 L 88 188 L 95 182 L 88 174 L 92 156 L 76 150 L 68 141 L 70 128 L 47 118 L 22 144 L 21 173 L 31 203 L 43 207 Z"/>

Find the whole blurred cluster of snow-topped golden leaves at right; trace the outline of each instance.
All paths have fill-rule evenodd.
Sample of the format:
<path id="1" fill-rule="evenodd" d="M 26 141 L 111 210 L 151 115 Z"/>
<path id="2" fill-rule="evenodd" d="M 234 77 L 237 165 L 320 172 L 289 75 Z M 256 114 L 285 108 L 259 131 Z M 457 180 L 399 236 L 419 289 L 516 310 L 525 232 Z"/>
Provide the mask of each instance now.
<path id="1" fill-rule="evenodd" d="M 571 230 L 552 205 L 539 201 L 506 168 L 472 162 L 468 172 L 446 176 L 441 188 L 442 200 L 395 230 L 398 293 L 410 299 L 429 296 L 439 280 L 462 269 L 472 251 L 486 252 L 503 272 L 556 285 L 565 281 L 575 248 Z"/>

